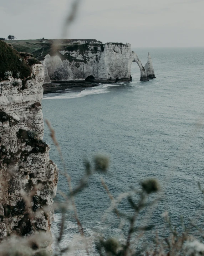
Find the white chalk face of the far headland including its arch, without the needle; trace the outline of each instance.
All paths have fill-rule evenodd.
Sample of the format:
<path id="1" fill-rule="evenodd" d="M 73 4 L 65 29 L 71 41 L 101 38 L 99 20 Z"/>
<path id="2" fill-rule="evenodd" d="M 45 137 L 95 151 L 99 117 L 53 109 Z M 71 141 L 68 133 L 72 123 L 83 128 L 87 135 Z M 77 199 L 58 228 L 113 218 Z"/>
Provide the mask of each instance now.
<path id="1" fill-rule="evenodd" d="M 132 62 L 137 62 L 141 70 L 141 80 L 147 79 L 147 72 L 131 44 L 106 43 L 88 44 L 87 48 L 59 50 L 60 55 L 44 58 L 46 82 L 86 79 L 91 76 L 98 82 L 131 81 Z M 93 76 L 93 77 L 92 77 Z"/>

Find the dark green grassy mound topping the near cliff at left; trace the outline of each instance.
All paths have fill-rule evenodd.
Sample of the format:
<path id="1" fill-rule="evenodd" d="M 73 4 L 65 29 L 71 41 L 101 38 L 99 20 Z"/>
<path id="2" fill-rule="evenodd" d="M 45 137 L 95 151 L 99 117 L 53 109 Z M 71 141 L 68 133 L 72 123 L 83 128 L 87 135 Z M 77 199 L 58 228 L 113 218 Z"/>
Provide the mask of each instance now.
<path id="1" fill-rule="evenodd" d="M 4 79 L 6 71 L 12 72 L 14 78 L 24 79 L 30 76 L 31 67 L 15 49 L 0 41 L 0 79 Z"/>

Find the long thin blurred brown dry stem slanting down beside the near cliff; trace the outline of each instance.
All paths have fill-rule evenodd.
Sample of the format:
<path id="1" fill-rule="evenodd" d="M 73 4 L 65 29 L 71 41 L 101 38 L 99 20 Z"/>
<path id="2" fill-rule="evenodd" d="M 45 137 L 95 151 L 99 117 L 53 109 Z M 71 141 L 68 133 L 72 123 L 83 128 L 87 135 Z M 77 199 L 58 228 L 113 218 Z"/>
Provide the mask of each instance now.
<path id="1" fill-rule="evenodd" d="M 62 151 L 61 151 L 61 148 L 60 148 L 60 145 L 58 144 L 58 141 L 55 137 L 55 130 L 52 128 L 50 122 L 48 120 L 45 120 L 46 121 L 46 124 L 50 130 L 50 136 L 52 138 L 52 141 L 53 143 L 55 144 L 57 150 L 58 150 L 58 153 L 60 155 L 60 158 L 61 158 L 61 161 L 62 161 L 62 164 L 63 164 L 63 169 L 64 169 L 64 173 L 63 175 L 65 177 L 67 177 L 67 180 L 68 180 L 68 186 L 69 186 L 69 190 L 70 190 L 70 193 L 72 194 L 73 190 L 72 190 L 72 184 L 71 184 L 71 177 L 67 174 L 67 170 L 66 170 L 66 163 L 65 163 L 65 160 L 62 156 Z M 89 255 L 89 252 L 88 252 L 88 245 L 87 245 L 87 242 L 86 242 L 86 238 L 85 238 L 85 234 L 84 234 L 84 231 L 83 231 L 83 226 L 78 218 L 78 213 L 77 213 L 77 208 L 76 208 L 76 204 L 75 204 L 75 200 L 73 198 L 73 196 L 71 197 L 71 202 L 72 202 L 72 207 L 73 207 L 73 210 L 74 210 L 74 213 L 75 213 L 75 219 L 77 221 L 77 226 L 78 226 L 78 230 L 79 232 L 81 233 L 83 239 L 84 239 L 84 242 L 85 242 L 85 245 L 86 245 L 86 252 L 87 252 L 87 255 Z M 64 221 L 65 221 L 65 214 L 63 213 L 62 214 L 62 222 L 64 224 Z M 61 225 L 61 229 L 60 229 L 60 236 L 58 238 L 58 242 L 60 242 L 61 240 L 61 237 L 62 237 L 62 233 L 63 233 L 63 230 L 62 230 L 62 227 L 64 225 Z M 59 240 L 60 239 L 60 240 Z"/>

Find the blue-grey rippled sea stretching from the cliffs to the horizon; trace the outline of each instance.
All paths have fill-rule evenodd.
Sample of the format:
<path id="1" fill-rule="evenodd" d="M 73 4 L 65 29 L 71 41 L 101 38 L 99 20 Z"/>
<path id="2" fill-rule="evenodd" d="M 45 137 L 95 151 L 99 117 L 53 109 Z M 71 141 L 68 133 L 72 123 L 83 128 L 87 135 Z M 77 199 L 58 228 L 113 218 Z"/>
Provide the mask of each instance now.
<path id="1" fill-rule="evenodd" d="M 102 219 L 110 199 L 101 185 L 101 176 L 114 197 L 131 187 L 139 188 L 141 180 L 154 177 L 161 184 L 159 196 L 163 201 L 143 210 L 137 222 L 141 226 L 155 224 L 155 229 L 142 238 L 151 241 L 156 230 L 161 237 L 168 233 L 164 211 L 169 212 L 178 230 L 181 214 L 185 223 L 189 223 L 188 218 L 200 225 L 204 220 L 204 201 L 198 189 L 198 182 L 204 185 L 204 48 L 133 50 L 143 65 L 150 52 L 156 79 L 140 82 L 139 67 L 133 63 L 132 82 L 52 93 L 44 96 L 42 107 L 44 119 L 50 120 L 55 129 L 73 187 L 83 175 L 84 158 L 92 160 L 98 152 L 110 156 L 109 174 L 93 175 L 89 187 L 76 197 L 86 235 L 95 236 L 97 231 L 107 237 L 121 237 L 114 214 Z M 44 140 L 51 146 L 50 158 L 62 170 L 46 125 Z M 58 190 L 68 193 L 67 180 L 61 174 Z M 153 198 L 155 195 L 150 200 Z M 126 200 L 122 200 L 119 209 L 131 214 Z M 54 236 L 59 223 L 60 213 L 56 212 Z M 124 234 L 127 227 L 123 228 Z M 62 246 L 77 232 L 71 212 Z"/>

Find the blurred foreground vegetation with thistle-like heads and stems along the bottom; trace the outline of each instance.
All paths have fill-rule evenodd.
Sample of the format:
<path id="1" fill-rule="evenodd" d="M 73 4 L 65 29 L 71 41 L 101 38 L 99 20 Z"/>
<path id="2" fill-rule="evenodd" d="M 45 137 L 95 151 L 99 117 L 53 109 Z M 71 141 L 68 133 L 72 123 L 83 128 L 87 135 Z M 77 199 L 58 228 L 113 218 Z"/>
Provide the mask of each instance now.
<path id="1" fill-rule="evenodd" d="M 119 194 L 117 198 L 114 198 L 104 180 L 101 178 L 101 185 L 107 192 L 111 204 L 109 209 L 105 211 L 106 218 L 108 214 L 113 213 L 115 217 L 118 218 L 120 224 L 119 229 L 122 231 L 124 226 L 127 227 L 127 232 L 123 233 L 121 238 L 107 237 L 102 233 L 95 233 L 95 238 L 90 238 L 86 236 L 82 223 L 77 214 L 77 206 L 75 204 L 75 196 L 83 193 L 83 189 L 89 186 L 88 183 L 91 175 L 99 173 L 101 175 L 108 174 L 109 168 L 109 158 L 105 155 L 95 155 L 92 161 L 85 160 L 84 168 L 85 172 L 83 177 L 79 180 L 78 186 L 72 188 L 71 177 L 68 175 L 66 170 L 66 163 L 63 160 L 60 146 L 55 137 L 55 132 L 47 122 L 49 129 L 51 131 L 51 137 L 53 143 L 57 147 L 59 156 L 61 158 L 62 164 L 64 166 L 61 170 L 65 179 L 67 179 L 67 185 L 69 187 L 69 192 L 67 194 L 61 193 L 63 197 L 62 202 L 55 202 L 55 210 L 61 212 L 61 221 L 58 236 L 55 238 L 54 252 L 51 253 L 47 245 L 49 245 L 51 238 L 45 234 L 45 232 L 35 232 L 30 233 L 27 236 L 17 236 L 11 235 L 7 237 L 0 243 L 0 255 L 2 256 L 48 256 L 48 255 L 78 255 L 83 253 L 83 255 L 99 255 L 99 256 L 176 256 L 176 255 L 204 255 L 204 243 L 199 241 L 191 234 L 190 227 L 186 227 L 181 217 L 181 227 L 182 232 L 178 233 L 176 228 L 174 228 L 170 222 L 168 212 L 164 212 L 163 217 L 165 222 L 169 227 L 169 235 L 165 238 L 161 238 L 157 233 L 154 233 L 153 243 L 144 244 L 143 246 L 137 246 L 138 239 L 145 233 L 149 233 L 154 230 L 153 224 L 138 226 L 137 219 L 140 212 L 143 209 L 148 210 L 158 201 L 163 200 L 161 197 L 161 184 L 159 184 L 157 179 L 149 178 L 141 182 L 139 188 L 132 188 L 130 191 Z M 199 184 L 199 189 L 202 194 L 204 190 Z M 35 188 L 34 188 L 35 190 Z M 147 200 L 150 195 L 154 194 L 155 197 L 153 201 Z M 30 198 L 30 202 L 26 202 L 26 207 L 33 215 L 37 214 L 32 211 L 32 197 L 29 195 L 25 196 L 25 201 Z M 128 206 L 132 209 L 132 215 L 127 214 L 127 212 L 121 212 L 119 210 L 119 204 L 122 200 L 126 200 Z M 86 207 L 86 206 L 85 206 Z M 42 209 L 41 209 L 42 210 Z M 46 212 L 47 209 L 45 209 Z M 63 236 L 65 236 L 65 222 L 66 215 L 73 215 L 75 217 L 78 234 L 73 238 L 73 241 L 67 244 L 66 247 L 61 246 L 61 241 Z M 196 227 L 196 225 L 193 225 Z M 200 232 L 202 238 L 203 231 L 196 227 Z M 75 246 L 76 244 L 76 246 Z M 94 246 L 93 246 L 94 245 Z M 82 254 L 80 254 L 82 255 Z"/>

